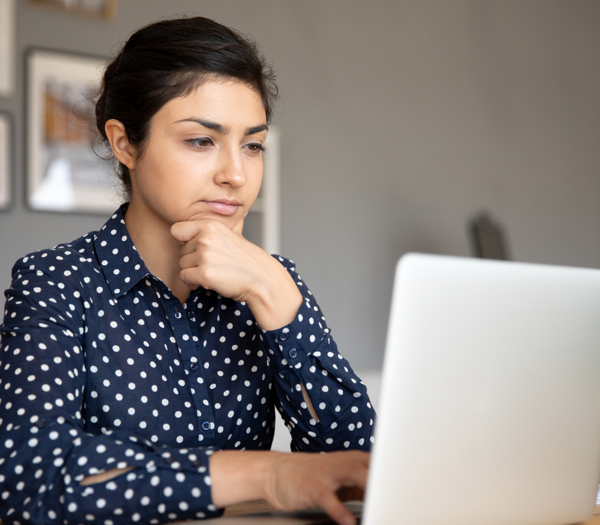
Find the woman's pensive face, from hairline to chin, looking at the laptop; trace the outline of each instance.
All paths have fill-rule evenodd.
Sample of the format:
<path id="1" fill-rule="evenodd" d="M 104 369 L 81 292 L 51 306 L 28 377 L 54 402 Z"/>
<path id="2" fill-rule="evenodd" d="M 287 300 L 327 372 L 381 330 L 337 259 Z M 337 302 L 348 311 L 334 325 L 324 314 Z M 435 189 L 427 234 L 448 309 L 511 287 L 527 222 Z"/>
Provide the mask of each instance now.
<path id="1" fill-rule="evenodd" d="M 213 218 L 241 232 L 259 193 L 266 134 L 260 96 L 239 82 L 206 82 L 170 100 L 130 170 L 132 205 L 142 199 L 170 224 Z"/>

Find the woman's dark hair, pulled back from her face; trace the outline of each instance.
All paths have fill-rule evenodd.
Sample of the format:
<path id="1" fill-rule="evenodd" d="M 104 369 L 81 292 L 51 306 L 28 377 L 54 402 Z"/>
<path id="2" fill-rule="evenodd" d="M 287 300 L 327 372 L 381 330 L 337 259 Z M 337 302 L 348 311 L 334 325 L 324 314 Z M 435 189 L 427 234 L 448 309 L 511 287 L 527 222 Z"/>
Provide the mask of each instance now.
<path id="1" fill-rule="evenodd" d="M 160 20 L 138 29 L 107 66 L 98 89 L 95 116 L 101 143 L 108 146 L 104 125 L 115 119 L 139 155 L 155 113 L 212 78 L 239 80 L 255 89 L 270 124 L 278 97 L 275 74 L 253 38 L 200 16 Z M 112 154 L 107 160 L 130 197 L 127 166 Z"/>

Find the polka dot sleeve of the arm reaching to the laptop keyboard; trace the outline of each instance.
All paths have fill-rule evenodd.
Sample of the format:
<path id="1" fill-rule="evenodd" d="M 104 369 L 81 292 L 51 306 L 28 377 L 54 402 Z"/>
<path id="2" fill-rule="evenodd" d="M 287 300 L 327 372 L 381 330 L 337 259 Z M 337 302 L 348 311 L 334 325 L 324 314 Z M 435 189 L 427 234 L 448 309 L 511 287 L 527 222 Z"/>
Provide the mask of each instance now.
<path id="1" fill-rule="evenodd" d="M 215 517 L 209 449 L 84 431 L 84 285 L 35 257 L 13 268 L 0 326 L 2 523 L 119 525 Z M 71 278 L 72 279 L 72 278 Z M 70 282 L 66 287 L 61 281 Z M 93 351 L 89 349 L 88 351 Z M 135 467 L 86 487 L 86 476 Z"/>

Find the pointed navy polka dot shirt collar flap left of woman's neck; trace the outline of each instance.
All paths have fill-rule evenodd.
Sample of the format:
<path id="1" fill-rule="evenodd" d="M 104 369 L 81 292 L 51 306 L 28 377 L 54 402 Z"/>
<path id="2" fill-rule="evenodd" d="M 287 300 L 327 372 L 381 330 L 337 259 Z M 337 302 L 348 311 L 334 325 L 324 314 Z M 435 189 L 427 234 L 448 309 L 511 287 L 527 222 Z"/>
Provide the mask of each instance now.
<path id="1" fill-rule="evenodd" d="M 94 236 L 94 247 L 113 298 L 127 293 L 150 272 L 125 226 L 123 215 L 129 203 L 122 205 Z"/>

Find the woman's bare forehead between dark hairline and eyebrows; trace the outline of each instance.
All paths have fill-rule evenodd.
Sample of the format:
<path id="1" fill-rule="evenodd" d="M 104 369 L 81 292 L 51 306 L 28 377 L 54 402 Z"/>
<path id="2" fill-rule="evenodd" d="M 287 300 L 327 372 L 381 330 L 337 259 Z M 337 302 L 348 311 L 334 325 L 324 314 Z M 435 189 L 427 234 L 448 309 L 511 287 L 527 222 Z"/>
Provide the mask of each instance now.
<path id="1" fill-rule="evenodd" d="M 247 128 L 265 123 L 266 113 L 260 95 L 248 85 L 233 80 L 210 80 L 164 104 L 154 121 L 170 124 L 189 118 Z"/>

